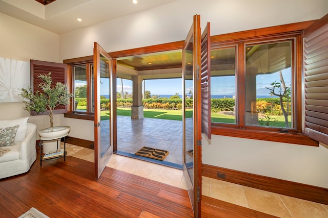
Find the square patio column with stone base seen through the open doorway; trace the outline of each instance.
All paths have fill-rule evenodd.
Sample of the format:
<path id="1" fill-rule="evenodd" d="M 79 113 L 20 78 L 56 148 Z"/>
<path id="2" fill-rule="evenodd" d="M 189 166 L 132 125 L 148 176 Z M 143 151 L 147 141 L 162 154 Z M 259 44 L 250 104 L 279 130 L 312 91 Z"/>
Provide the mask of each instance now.
<path id="1" fill-rule="evenodd" d="M 144 106 L 142 106 L 142 78 L 140 76 L 132 76 L 132 93 L 131 118 L 144 118 Z"/>

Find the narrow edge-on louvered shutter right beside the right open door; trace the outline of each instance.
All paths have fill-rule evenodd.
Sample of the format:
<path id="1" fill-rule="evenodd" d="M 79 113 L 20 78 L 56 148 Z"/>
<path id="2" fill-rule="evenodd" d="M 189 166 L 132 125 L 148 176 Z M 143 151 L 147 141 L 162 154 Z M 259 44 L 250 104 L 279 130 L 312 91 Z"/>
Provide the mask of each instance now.
<path id="1" fill-rule="evenodd" d="M 201 35 L 201 131 L 211 139 L 211 36 L 210 23 Z"/>

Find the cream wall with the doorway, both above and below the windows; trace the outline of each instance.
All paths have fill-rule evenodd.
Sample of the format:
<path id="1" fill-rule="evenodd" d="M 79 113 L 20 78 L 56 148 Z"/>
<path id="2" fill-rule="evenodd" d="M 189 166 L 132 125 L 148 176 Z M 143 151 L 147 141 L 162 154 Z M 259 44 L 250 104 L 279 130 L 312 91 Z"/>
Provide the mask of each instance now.
<path id="1" fill-rule="evenodd" d="M 61 34 L 59 57 L 92 55 L 94 41 L 114 52 L 184 40 L 195 14 L 201 27 L 209 21 L 211 35 L 218 35 L 319 19 L 327 9 L 326 0 L 180 0 Z M 203 163 L 328 188 L 328 149 L 323 146 L 212 137 L 211 144 L 203 141 Z"/>

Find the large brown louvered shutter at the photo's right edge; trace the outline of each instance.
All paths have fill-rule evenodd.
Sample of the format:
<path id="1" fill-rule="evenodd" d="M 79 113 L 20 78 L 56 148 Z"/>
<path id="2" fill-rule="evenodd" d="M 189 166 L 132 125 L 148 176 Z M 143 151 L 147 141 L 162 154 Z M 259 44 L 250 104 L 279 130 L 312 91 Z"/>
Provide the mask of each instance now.
<path id="1" fill-rule="evenodd" d="M 328 14 L 304 31 L 305 135 L 328 141 Z"/>

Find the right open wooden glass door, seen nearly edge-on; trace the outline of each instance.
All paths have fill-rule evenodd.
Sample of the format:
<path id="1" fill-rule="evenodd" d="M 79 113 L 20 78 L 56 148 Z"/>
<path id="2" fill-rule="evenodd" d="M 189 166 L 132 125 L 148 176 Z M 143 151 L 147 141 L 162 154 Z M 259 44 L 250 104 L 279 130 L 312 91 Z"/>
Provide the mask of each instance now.
<path id="1" fill-rule="evenodd" d="M 194 217 L 200 217 L 201 195 L 200 39 L 200 16 L 195 15 L 182 49 L 182 165 Z M 192 107 L 186 98 L 189 91 L 193 92 Z"/>

